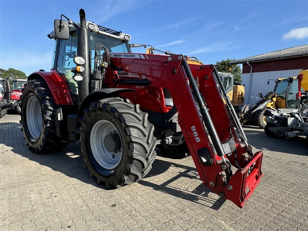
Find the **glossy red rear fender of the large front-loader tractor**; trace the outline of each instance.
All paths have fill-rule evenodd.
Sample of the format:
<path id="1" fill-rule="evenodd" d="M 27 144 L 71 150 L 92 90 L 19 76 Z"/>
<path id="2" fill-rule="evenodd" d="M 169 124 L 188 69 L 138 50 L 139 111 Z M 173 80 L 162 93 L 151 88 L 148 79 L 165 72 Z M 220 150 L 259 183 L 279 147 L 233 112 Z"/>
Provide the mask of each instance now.
<path id="1" fill-rule="evenodd" d="M 44 79 L 58 105 L 74 105 L 66 80 L 55 70 L 36 71 L 27 80 Z"/>

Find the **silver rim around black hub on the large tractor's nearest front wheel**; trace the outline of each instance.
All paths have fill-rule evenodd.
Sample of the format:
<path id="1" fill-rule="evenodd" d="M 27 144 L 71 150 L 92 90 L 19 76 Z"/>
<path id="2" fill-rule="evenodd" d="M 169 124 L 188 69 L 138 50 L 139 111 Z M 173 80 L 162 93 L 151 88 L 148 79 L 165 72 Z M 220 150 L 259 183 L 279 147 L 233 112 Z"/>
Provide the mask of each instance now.
<path id="1" fill-rule="evenodd" d="M 121 136 L 121 148 L 119 150 L 115 152 L 109 152 L 104 145 L 105 136 L 114 132 L 119 134 L 118 129 L 108 120 L 97 121 L 91 130 L 90 145 L 93 156 L 97 163 L 106 169 L 115 168 L 120 163 L 122 158 L 123 150 Z"/>

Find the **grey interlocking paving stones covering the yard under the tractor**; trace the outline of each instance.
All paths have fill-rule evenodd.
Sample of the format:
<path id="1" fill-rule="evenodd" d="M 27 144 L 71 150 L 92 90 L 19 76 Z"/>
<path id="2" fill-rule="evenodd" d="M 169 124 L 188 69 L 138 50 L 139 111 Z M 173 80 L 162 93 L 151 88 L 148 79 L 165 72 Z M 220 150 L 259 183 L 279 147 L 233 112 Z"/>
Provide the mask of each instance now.
<path id="1" fill-rule="evenodd" d="M 138 183 L 106 190 L 83 169 L 77 145 L 33 154 L 20 128 L 18 115 L 0 121 L 2 231 L 308 230 L 308 149 L 302 140 L 275 140 L 244 128 L 254 150 L 264 150 L 264 176 L 239 209 L 202 186 L 191 157 L 157 157 Z"/>

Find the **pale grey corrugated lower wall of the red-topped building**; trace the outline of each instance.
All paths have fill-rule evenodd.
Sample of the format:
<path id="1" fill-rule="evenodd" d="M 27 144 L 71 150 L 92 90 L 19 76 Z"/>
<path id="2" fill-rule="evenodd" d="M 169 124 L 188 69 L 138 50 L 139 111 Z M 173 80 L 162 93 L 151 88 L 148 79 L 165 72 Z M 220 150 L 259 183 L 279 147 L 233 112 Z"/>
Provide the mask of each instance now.
<path id="1" fill-rule="evenodd" d="M 258 96 L 260 92 L 262 94 L 266 94 L 267 92 L 274 90 L 275 81 L 270 81 L 270 84 L 267 85 L 268 79 L 288 78 L 290 76 L 297 76 L 298 72 L 301 70 L 302 69 L 253 73 L 251 93 L 249 93 L 250 73 L 242 74 L 242 85 L 245 84 L 244 104 L 249 103 L 250 105 L 253 105 L 258 100 L 260 100 Z"/>

